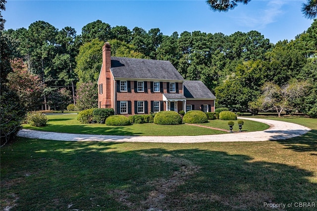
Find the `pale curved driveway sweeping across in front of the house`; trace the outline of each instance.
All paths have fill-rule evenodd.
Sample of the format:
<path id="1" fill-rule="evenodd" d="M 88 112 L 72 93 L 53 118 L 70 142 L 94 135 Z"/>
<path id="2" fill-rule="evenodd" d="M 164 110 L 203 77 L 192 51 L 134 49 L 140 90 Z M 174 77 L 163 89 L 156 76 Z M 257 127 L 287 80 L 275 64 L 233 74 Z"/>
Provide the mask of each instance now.
<path id="1" fill-rule="evenodd" d="M 37 130 L 22 129 L 19 137 L 32 139 L 46 139 L 56 141 L 114 141 L 114 142 L 157 142 L 157 143 L 204 143 L 204 142 L 237 142 L 237 141 L 271 141 L 289 139 L 303 135 L 310 131 L 308 127 L 290 122 L 269 119 L 239 117 L 252 121 L 263 122 L 270 127 L 264 131 L 234 132 L 227 134 L 202 135 L 202 136 L 112 136 L 112 135 L 87 135 L 71 133 L 55 133 Z"/>

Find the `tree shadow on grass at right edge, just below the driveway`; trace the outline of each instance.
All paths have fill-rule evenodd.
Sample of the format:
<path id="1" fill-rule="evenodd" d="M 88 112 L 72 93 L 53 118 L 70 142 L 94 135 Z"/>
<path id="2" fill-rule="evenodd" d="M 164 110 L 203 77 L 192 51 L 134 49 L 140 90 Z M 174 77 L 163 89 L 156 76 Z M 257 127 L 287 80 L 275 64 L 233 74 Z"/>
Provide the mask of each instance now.
<path id="1" fill-rule="evenodd" d="M 317 130 L 311 130 L 295 138 L 275 141 L 295 152 L 317 152 Z"/>

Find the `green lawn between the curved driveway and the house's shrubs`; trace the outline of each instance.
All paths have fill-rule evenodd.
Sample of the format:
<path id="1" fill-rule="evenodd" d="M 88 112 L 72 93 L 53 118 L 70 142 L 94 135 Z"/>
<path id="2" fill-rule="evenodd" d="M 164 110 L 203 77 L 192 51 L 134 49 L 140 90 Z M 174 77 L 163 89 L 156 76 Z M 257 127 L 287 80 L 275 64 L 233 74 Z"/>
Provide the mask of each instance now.
<path id="1" fill-rule="evenodd" d="M 142 136 L 180 136 L 180 135 L 212 135 L 226 133 L 224 131 L 212 130 L 193 125 L 156 125 L 153 123 L 133 124 L 129 126 L 107 126 L 105 124 L 80 124 L 76 114 L 67 115 L 47 115 L 49 118 L 46 127 L 32 127 L 23 125 L 25 129 L 43 130 L 61 133 L 95 134 L 95 135 L 142 135 Z M 203 125 L 229 129 L 228 121 L 210 120 Z M 268 125 L 254 121 L 245 121 L 244 131 L 257 131 L 268 128 Z M 234 126 L 238 131 L 238 125 Z"/>

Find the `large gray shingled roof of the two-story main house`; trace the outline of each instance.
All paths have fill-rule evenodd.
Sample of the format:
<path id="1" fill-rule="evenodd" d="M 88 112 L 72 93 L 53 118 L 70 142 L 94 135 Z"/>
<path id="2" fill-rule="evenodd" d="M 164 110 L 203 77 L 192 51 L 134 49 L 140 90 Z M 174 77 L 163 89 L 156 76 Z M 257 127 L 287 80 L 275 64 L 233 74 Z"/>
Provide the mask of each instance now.
<path id="1" fill-rule="evenodd" d="M 115 78 L 148 78 L 184 80 L 170 61 L 111 56 L 111 71 Z"/>

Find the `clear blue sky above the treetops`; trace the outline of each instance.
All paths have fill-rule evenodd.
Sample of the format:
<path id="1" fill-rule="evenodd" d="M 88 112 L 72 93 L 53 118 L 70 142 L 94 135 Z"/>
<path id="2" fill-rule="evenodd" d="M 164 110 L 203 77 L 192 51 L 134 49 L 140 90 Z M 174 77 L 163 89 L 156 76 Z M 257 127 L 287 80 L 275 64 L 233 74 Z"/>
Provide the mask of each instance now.
<path id="1" fill-rule="evenodd" d="M 37 20 L 58 29 L 75 28 L 77 34 L 86 24 L 102 20 L 130 30 L 159 28 L 164 35 L 173 32 L 259 31 L 270 42 L 292 40 L 307 30 L 313 20 L 304 18 L 304 0 L 251 0 L 229 12 L 213 12 L 205 0 L 7 0 L 5 29 L 28 28 Z"/>

